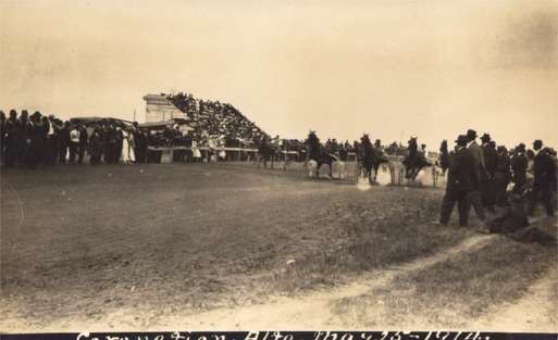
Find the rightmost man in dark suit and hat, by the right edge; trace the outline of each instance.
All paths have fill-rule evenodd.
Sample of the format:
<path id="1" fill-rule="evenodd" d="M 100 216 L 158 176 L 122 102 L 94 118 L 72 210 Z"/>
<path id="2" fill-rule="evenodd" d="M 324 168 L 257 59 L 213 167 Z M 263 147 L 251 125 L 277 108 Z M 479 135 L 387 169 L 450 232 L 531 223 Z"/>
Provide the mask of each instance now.
<path id="1" fill-rule="evenodd" d="M 556 180 L 556 163 L 548 152 L 541 150 L 542 148 L 542 140 L 537 139 L 533 142 L 533 149 L 537 153 L 533 165 L 535 178 L 528 212 L 529 215 L 533 215 L 536 203 L 542 201 L 546 209 L 546 214 L 554 216 L 553 186 Z"/>

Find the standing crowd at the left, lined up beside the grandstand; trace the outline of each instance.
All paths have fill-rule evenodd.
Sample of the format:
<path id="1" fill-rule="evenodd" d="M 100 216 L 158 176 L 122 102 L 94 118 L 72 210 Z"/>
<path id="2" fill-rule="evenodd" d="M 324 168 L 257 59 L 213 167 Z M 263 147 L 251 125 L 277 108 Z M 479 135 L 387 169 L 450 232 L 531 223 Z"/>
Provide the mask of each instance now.
<path id="1" fill-rule="evenodd" d="M 117 163 L 121 160 L 123 140 L 129 136 L 137 162 L 146 162 L 148 134 L 133 126 L 120 126 L 113 122 L 99 122 L 88 128 L 77 122 L 62 122 L 53 115 L 23 110 L 20 115 L 11 110 L 9 116 L 0 111 L 1 163 L 37 167 L 52 164 L 82 164 L 85 154 L 91 164 Z M 127 130 L 125 133 L 124 130 Z"/>

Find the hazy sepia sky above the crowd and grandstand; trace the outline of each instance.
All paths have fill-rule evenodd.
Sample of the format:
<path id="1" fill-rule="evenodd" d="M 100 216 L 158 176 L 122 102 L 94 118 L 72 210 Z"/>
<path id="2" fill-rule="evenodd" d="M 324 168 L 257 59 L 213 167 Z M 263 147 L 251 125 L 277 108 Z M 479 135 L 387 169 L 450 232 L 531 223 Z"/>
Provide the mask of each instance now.
<path id="1" fill-rule="evenodd" d="M 132 119 L 146 93 L 270 134 L 558 144 L 556 1 L 0 0 L 0 109 Z"/>

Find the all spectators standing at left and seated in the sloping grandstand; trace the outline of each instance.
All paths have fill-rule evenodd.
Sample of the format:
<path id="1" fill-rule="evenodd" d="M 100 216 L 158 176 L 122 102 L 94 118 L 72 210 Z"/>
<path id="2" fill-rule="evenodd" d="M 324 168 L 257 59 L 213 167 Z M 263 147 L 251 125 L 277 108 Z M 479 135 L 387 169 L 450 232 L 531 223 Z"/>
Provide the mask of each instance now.
<path id="1" fill-rule="evenodd" d="M 36 167 L 51 164 L 91 164 L 159 162 L 161 152 L 149 152 L 149 147 L 185 147 L 203 150 L 220 148 L 258 149 L 265 141 L 281 152 L 296 153 L 292 159 L 303 161 L 307 147 L 302 139 L 271 138 L 255 123 L 230 104 L 196 101 L 191 96 L 178 93 L 173 102 L 189 117 L 193 129 L 183 130 L 176 125 L 160 129 L 140 128 L 137 123 L 113 118 L 72 118 L 62 121 L 53 115 L 26 110 L 20 114 L 11 110 L 7 117 L 0 112 L 2 164 Z M 200 109 L 201 108 L 201 109 Z M 380 141 L 376 141 L 380 146 Z M 335 138 L 323 143 L 324 152 L 347 161 L 355 154 L 358 142 L 338 142 Z M 380 147 L 383 148 L 383 147 Z M 177 148 L 181 149 L 181 148 Z M 386 153 L 400 152 L 395 142 L 385 148 Z M 154 153 L 154 154 L 153 154 Z M 207 151 L 199 152 L 207 156 Z M 176 151 L 175 161 L 196 158 L 193 151 Z M 196 161 L 199 161 L 196 160 Z"/>

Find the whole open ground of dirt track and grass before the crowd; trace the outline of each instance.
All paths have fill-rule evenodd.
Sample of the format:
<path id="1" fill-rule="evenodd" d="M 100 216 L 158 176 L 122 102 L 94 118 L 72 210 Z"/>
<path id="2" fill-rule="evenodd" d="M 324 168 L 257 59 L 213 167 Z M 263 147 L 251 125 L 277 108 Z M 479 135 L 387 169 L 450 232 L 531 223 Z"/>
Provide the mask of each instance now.
<path id="1" fill-rule="evenodd" d="M 1 189 L 0 331 L 498 329 L 516 304 L 556 312 L 556 247 L 433 226 L 441 190 L 225 164 L 11 169 Z"/>

